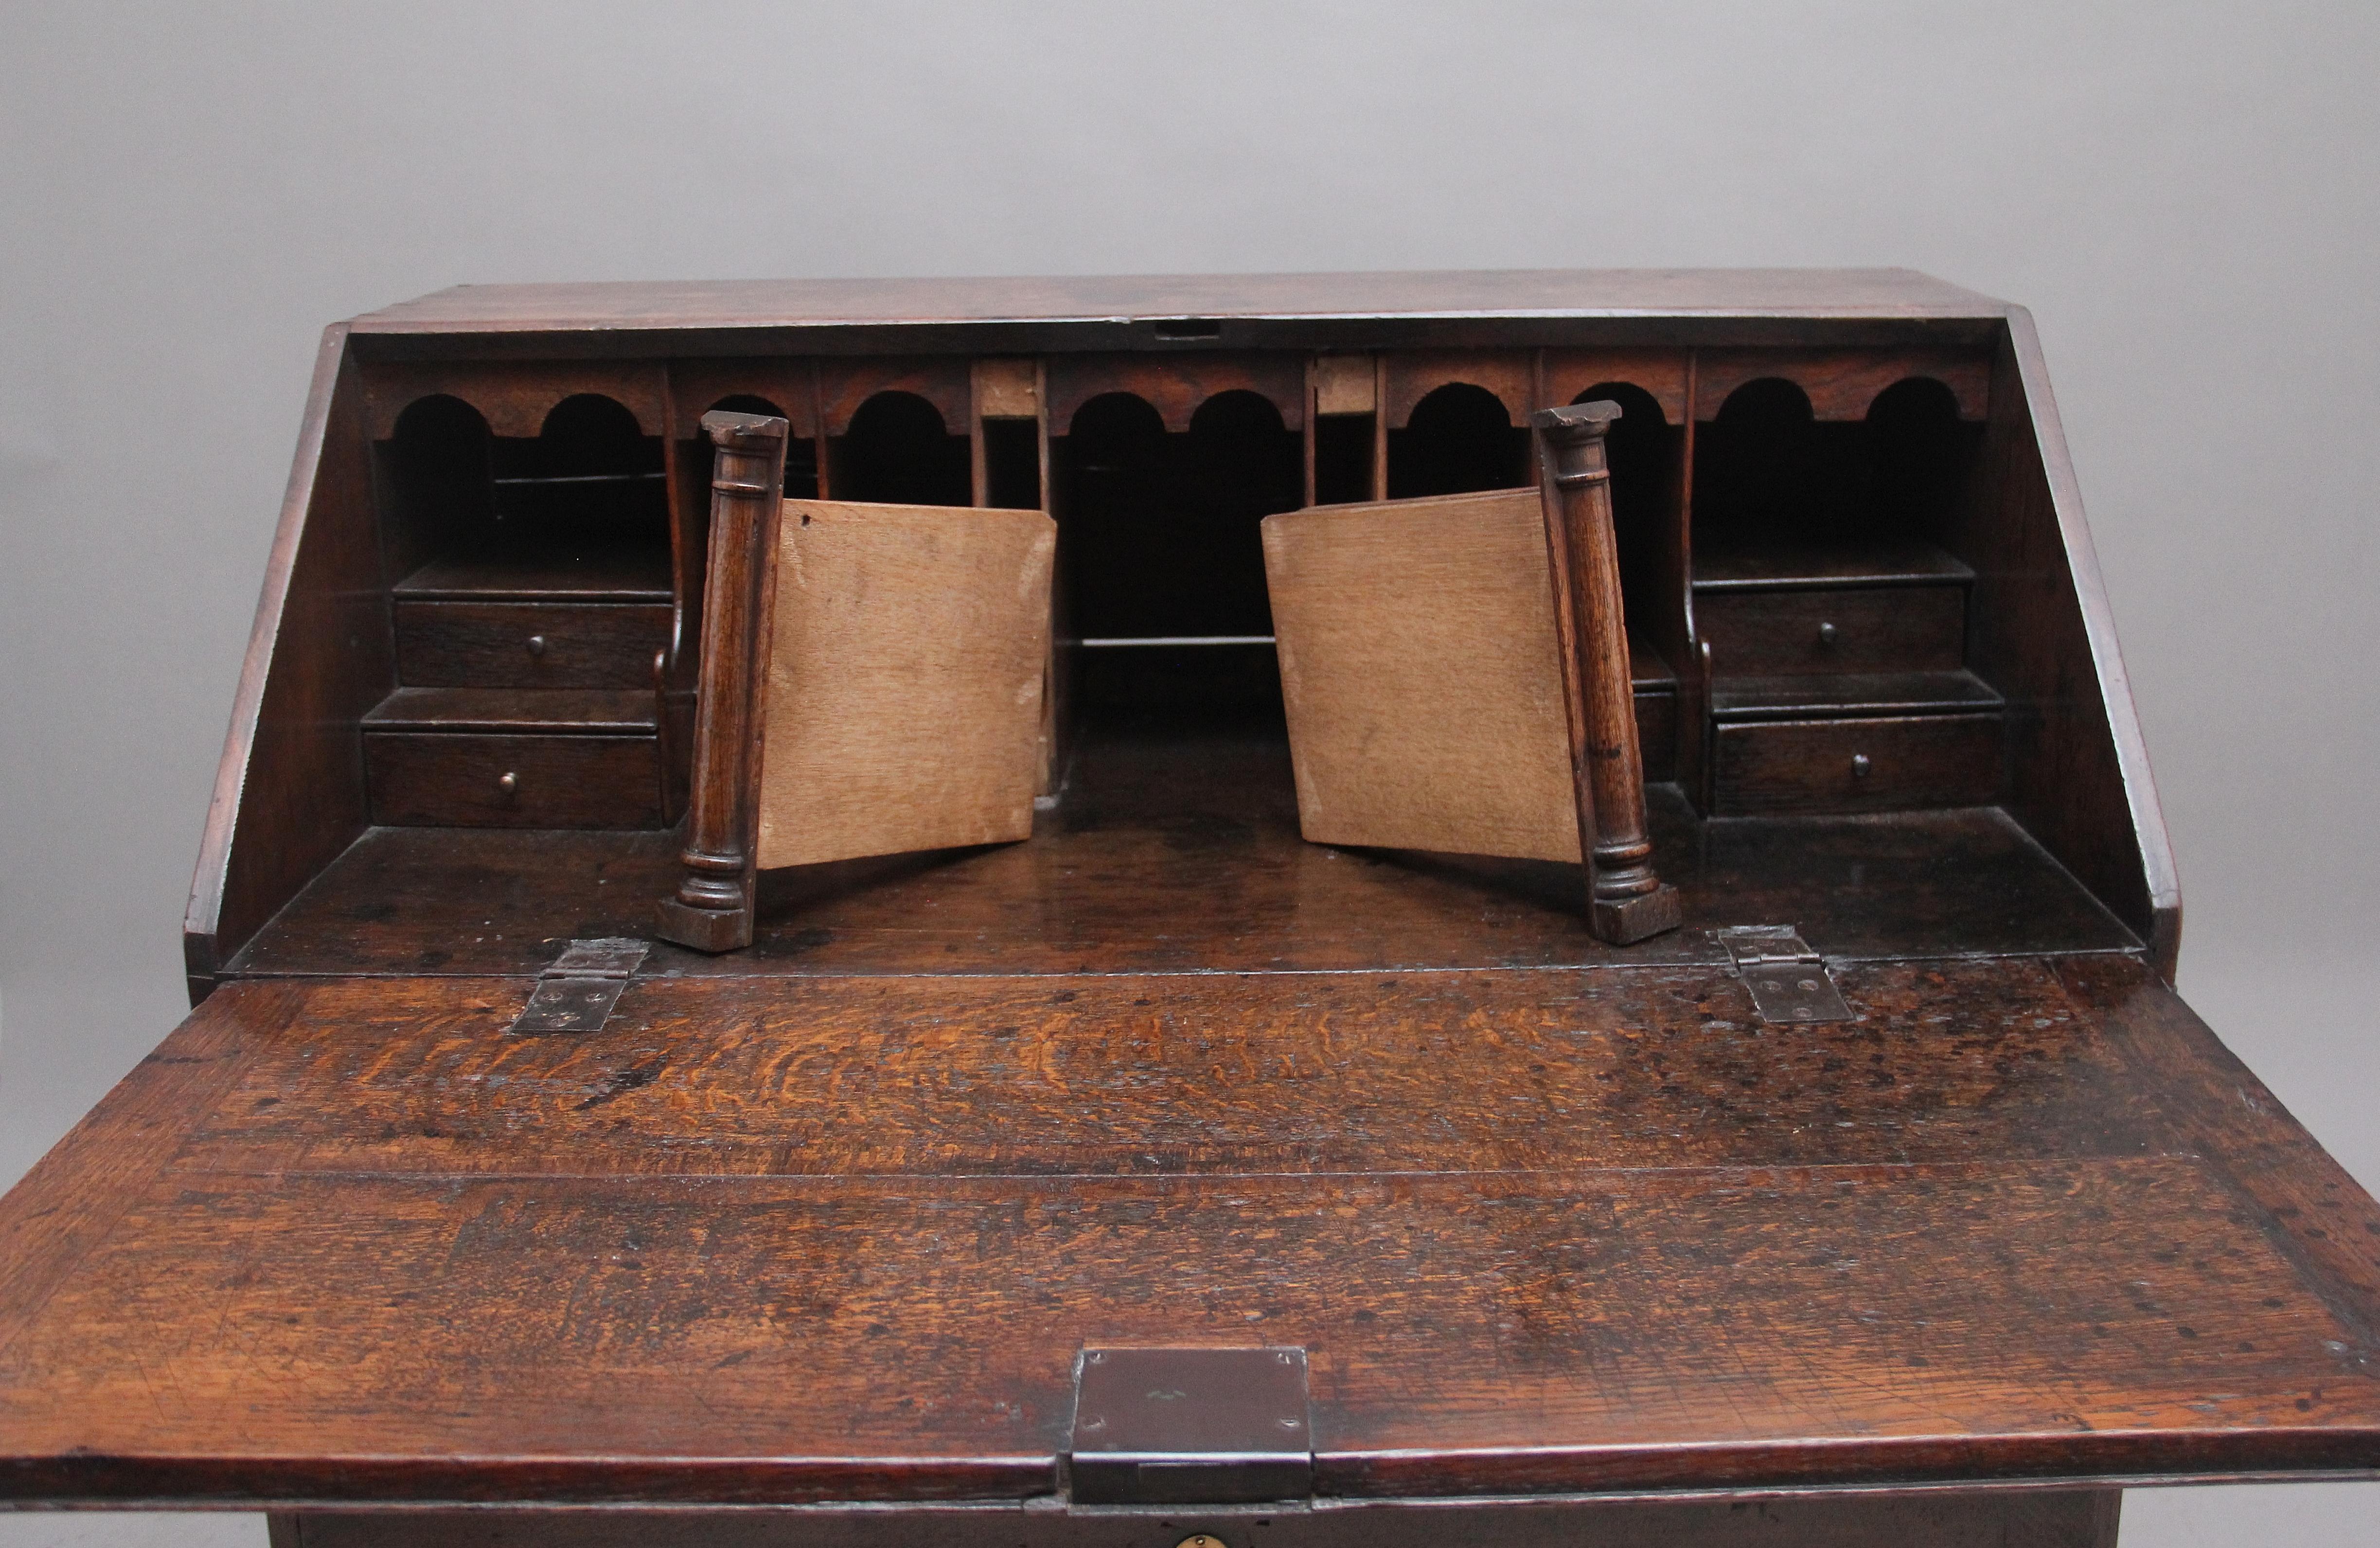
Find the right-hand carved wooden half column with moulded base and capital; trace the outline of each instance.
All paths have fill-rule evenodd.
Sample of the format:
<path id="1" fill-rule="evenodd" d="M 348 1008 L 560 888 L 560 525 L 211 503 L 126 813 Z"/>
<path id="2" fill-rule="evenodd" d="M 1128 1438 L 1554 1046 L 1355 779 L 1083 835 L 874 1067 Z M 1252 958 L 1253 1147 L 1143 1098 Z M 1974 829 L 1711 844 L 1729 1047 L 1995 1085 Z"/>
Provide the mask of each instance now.
<path id="1" fill-rule="evenodd" d="M 1545 545 L 1554 572 L 1578 843 L 1587 860 L 1587 926 L 1597 941 L 1628 945 L 1678 929 L 1678 888 L 1654 874 L 1645 829 L 1645 753 L 1637 748 L 1621 555 L 1611 531 L 1606 431 L 1618 417 L 1616 402 L 1578 402 L 1537 410 L 1530 424 L 1537 429 Z"/>

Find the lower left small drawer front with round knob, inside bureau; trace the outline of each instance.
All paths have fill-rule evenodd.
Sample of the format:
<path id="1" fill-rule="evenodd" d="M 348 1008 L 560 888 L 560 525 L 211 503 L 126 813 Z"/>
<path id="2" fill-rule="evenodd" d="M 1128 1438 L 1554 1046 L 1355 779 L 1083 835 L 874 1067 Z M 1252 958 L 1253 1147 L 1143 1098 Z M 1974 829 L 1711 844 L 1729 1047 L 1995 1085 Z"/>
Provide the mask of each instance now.
<path id="1" fill-rule="evenodd" d="M 657 829 L 650 736 L 371 731 L 371 819 L 443 829 Z M 505 776 L 512 788 L 505 788 Z"/>

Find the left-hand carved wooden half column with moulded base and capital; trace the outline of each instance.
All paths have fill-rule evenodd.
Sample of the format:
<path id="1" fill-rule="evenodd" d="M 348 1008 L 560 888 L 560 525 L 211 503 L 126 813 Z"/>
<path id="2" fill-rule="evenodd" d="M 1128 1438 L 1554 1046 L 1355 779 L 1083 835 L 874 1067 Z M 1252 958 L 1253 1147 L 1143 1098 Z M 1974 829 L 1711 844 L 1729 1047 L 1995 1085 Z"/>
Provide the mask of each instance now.
<path id="1" fill-rule="evenodd" d="M 702 705 L 685 810 L 685 874 L 659 934 L 695 950 L 752 945 L 759 817 L 759 688 L 769 636 L 769 548 L 785 505 L 785 422 L 712 412 L 712 553 L 702 603 Z"/>

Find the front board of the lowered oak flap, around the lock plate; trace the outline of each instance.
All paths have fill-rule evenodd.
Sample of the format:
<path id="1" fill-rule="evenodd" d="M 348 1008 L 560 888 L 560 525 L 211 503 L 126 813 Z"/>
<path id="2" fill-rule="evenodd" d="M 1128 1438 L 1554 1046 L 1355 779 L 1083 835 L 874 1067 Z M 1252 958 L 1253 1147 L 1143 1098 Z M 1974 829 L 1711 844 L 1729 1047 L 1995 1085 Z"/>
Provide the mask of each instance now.
<path id="1" fill-rule="evenodd" d="M 1014 1498 L 1054 1484 L 1078 1348 L 1252 1336 L 1309 1350 L 1330 1496 L 2380 1467 L 2356 1329 L 2204 1162 L 2152 1155 L 1031 1188 L 174 1169 L 0 1350 L 0 1484 Z"/>

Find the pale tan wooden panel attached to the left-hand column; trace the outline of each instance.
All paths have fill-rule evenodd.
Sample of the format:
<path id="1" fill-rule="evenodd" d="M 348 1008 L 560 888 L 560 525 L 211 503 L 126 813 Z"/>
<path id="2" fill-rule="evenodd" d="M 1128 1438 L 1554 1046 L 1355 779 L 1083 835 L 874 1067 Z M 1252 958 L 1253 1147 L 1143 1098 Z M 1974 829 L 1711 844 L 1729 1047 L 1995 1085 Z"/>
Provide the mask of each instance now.
<path id="1" fill-rule="evenodd" d="M 1057 522 L 785 500 L 759 867 L 1031 838 Z"/>

